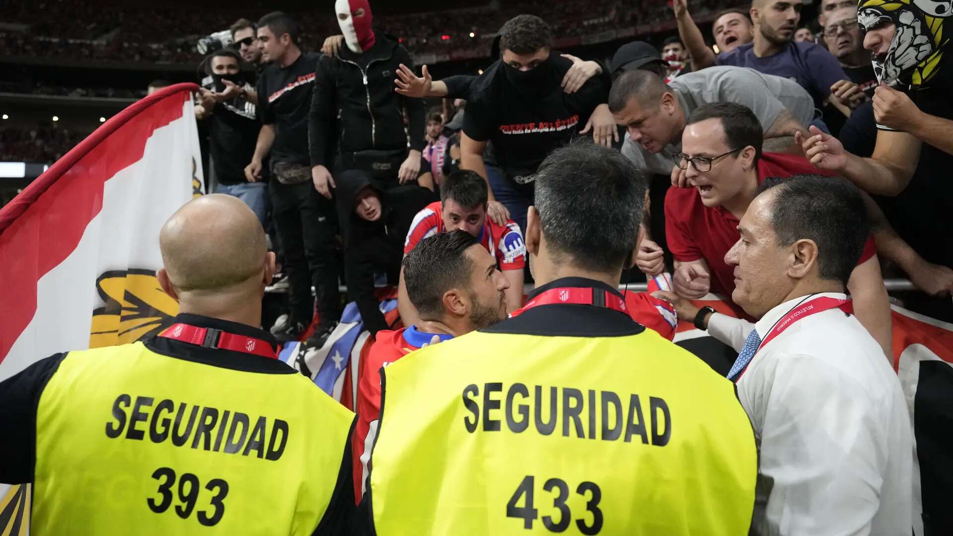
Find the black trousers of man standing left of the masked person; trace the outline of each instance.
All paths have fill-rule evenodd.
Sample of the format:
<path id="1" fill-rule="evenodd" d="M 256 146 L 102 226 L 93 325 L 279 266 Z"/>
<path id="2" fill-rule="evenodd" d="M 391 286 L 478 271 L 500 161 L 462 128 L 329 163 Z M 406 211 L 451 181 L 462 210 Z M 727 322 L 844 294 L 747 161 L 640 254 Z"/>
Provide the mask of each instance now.
<path id="1" fill-rule="evenodd" d="M 335 247 L 337 216 L 334 201 L 318 194 L 310 180 L 288 185 L 273 178 L 269 189 L 272 217 L 285 254 L 292 321 L 305 324 L 311 321 L 314 313 L 312 285 L 320 320 L 339 320 L 340 252 Z"/>

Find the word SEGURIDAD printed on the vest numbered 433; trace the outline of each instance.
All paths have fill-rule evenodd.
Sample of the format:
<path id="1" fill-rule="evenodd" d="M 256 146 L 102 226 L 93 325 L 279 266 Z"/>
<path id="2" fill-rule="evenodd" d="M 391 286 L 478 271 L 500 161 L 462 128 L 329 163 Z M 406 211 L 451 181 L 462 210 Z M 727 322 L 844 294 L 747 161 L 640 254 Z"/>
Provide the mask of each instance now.
<path id="1" fill-rule="evenodd" d="M 505 429 L 517 434 L 532 429 L 543 436 L 555 433 L 601 441 L 630 443 L 638 438 L 655 446 L 665 446 L 671 439 L 672 416 L 659 397 L 647 397 L 643 408 L 646 397 L 637 394 L 523 383 L 505 387 L 495 381 L 463 388 L 463 405 L 469 413 L 463 425 L 468 432 L 499 432 L 506 423 Z"/>

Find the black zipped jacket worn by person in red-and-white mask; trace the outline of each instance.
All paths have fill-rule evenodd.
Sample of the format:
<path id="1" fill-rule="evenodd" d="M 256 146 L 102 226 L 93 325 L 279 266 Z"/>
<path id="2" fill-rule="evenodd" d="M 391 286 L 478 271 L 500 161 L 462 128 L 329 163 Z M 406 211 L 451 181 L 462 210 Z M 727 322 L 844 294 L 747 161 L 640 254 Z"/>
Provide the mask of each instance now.
<path id="1" fill-rule="evenodd" d="M 410 120 L 410 148 L 423 150 L 427 145 L 424 101 L 394 91 L 401 63 L 414 69 L 407 50 L 379 31 L 367 52 L 355 54 L 345 47 L 336 58 L 322 55 L 318 59 L 308 118 L 312 166 L 333 164 L 327 161 L 327 148 L 334 142 L 338 111 L 341 153 L 406 150 L 403 109 Z"/>

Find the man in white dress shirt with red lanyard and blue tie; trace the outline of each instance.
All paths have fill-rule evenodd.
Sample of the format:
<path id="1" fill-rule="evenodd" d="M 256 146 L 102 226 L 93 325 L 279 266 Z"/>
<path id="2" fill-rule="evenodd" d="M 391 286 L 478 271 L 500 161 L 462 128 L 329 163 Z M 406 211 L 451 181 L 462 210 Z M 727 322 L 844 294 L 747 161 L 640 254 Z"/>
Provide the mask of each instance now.
<path id="1" fill-rule="evenodd" d="M 729 378 L 760 448 L 756 534 L 911 533 L 912 433 L 897 375 L 850 314 L 867 216 L 841 178 L 766 180 L 725 256 L 758 320 L 702 322 L 739 351 Z M 659 294 L 657 293 L 657 296 Z M 679 318 L 700 309 L 674 294 Z"/>

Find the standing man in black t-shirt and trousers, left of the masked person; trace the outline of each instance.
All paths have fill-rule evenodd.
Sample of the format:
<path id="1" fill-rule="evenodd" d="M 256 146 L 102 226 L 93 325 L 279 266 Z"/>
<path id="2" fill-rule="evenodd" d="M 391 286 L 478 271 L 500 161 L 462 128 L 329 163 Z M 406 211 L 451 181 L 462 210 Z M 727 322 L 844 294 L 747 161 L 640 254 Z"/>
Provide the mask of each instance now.
<path id="1" fill-rule="evenodd" d="M 259 177 L 262 158 L 271 153 L 272 216 L 291 286 L 291 318 L 275 337 L 301 338 L 314 314 L 314 285 L 319 323 L 309 342 L 321 346 L 340 319 L 340 300 L 335 207 L 315 191 L 308 153 L 308 112 L 319 54 L 301 52 L 294 20 L 280 11 L 262 17 L 257 27 L 262 61 L 272 64 L 258 80 L 262 127 L 245 175 L 249 181 Z"/>

